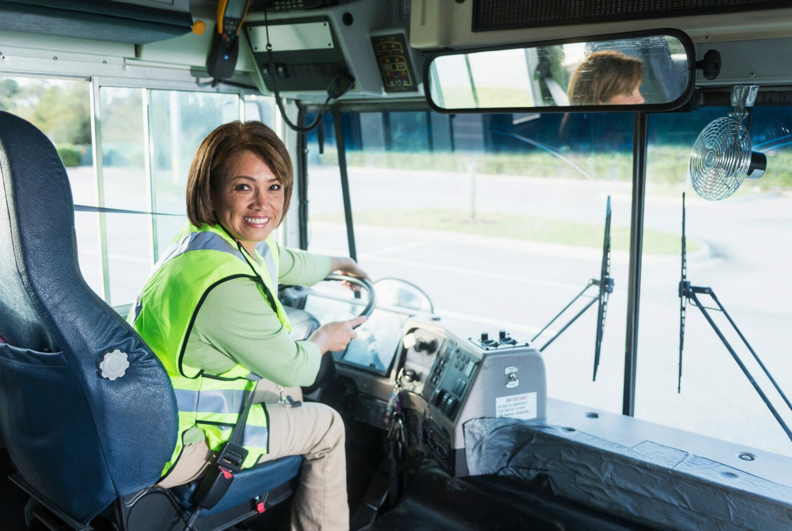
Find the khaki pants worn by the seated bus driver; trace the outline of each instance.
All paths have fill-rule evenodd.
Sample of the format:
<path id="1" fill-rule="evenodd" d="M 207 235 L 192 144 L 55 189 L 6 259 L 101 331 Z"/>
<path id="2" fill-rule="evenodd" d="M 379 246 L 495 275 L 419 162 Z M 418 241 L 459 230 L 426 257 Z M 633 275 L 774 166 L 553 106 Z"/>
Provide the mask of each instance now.
<path id="1" fill-rule="evenodd" d="M 344 422 L 332 407 L 267 404 L 269 453 L 259 463 L 284 456 L 305 457 L 299 488 L 291 506 L 291 529 L 349 529 Z M 206 442 L 186 445 L 160 487 L 174 487 L 200 477 L 212 452 Z"/>

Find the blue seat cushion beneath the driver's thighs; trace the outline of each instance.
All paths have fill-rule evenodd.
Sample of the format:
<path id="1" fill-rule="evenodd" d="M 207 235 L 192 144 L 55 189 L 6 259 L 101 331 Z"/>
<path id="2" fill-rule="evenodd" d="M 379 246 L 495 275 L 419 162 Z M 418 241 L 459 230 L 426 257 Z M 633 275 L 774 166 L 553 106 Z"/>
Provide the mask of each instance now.
<path id="1" fill-rule="evenodd" d="M 228 487 L 226 495 L 211 509 L 201 511 L 202 516 L 220 513 L 223 510 L 249 502 L 258 495 L 263 495 L 282 485 L 299 474 L 303 464 L 303 456 L 281 457 L 267 463 L 259 464 L 234 474 L 234 481 Z M 173 495 L 185 509 L 192 509 L 192 498 L 203 479 L 192 483 L 173 487 Z"/>

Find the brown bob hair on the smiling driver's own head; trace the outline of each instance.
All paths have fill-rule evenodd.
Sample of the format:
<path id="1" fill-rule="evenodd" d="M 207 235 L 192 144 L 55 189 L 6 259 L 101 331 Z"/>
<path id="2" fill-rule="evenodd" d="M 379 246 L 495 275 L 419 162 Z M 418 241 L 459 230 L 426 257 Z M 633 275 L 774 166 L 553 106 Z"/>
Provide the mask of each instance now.
<path id="1" fill-rule="evenodd" d="M 285 144 L 260 121 L 223 124 L 208 134 L 198 146 L 187 176 L 187 217 L 200 227 L 218 223 L 212 208 L 211 194 L 219 189 L 231 164 L 243 151 L 251 151 L 264 162 L 284 187 L 284 214 L 294 188 L 294 169 Z"/>

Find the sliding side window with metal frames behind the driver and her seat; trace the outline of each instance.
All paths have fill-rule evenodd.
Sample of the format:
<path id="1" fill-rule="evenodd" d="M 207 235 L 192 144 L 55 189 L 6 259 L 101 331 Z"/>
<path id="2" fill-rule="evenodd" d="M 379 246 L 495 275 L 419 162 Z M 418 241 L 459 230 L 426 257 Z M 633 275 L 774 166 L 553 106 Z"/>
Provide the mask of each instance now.
<path id="1" fill-rule="evenodd" d="M 88 285 L 124 307 L 185 223 L 187 174 L 198 144 L 218 125 L 240 119 L 242 105 L 238 94 L 99 84 L 0 77 L 0 109 L 31 121 L 55 143 L 75 205 L 108 209 L 74 213 L 78 258 Z"/>

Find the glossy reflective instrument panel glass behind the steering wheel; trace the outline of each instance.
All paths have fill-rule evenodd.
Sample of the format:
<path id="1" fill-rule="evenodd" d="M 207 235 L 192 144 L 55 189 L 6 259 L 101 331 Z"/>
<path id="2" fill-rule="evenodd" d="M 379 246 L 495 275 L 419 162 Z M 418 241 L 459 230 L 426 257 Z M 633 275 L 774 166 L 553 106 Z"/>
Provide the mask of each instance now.
<path id="1" fill-rule="evenodd" d="M 352 319 L 363 306 L 310 295 L 304 309 L 320 323 L 329 323 Z M 401 346 L 402 327 L 406 320 L 406 314 L 376 309 L 356 329 L 357 338 L 349 342 L 345 351 L 333 353 L 333 357 L 343 365 L 386 376 Z"/>

